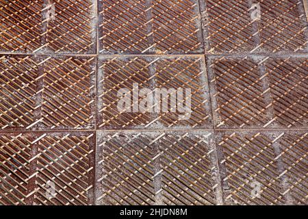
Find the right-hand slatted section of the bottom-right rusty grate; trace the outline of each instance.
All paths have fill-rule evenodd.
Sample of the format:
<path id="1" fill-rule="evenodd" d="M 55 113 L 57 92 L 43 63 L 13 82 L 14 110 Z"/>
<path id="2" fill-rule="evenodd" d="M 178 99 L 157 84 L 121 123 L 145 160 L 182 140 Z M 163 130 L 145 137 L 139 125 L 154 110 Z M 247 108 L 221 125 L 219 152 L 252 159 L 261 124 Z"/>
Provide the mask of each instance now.
<path id="1" fill-rule="evenodd" d="M 307 205 L 307 135 L 287 133 L 280 140 L 283 166 L 288 186 L 284 194 L 291 193 L 294 205 Z"/>

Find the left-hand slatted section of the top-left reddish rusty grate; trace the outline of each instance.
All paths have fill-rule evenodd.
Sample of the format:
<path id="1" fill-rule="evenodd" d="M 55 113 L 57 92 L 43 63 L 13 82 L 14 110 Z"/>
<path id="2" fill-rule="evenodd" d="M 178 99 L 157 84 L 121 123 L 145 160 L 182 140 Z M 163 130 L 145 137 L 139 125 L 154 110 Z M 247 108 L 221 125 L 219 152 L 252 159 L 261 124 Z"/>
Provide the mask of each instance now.
<path id="1" fill-rule="evenodd" d="M 42 46 L 43 1 L 1 1 L 0 50 L 29 53 Z"/>

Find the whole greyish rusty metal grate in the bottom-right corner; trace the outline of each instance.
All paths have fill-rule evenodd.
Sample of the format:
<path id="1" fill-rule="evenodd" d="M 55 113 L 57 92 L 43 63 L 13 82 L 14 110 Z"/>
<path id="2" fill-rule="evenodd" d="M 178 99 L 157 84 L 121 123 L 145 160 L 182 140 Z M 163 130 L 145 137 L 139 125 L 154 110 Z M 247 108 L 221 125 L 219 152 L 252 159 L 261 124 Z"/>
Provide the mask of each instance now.
<path id="1" fill-rule="evenodd" d="M 227 203 L 307 204 L 306 140 L 303 131 L 222 133 L 218 151 Z M 252 196 L 257 187 L 260 196 Z"/>

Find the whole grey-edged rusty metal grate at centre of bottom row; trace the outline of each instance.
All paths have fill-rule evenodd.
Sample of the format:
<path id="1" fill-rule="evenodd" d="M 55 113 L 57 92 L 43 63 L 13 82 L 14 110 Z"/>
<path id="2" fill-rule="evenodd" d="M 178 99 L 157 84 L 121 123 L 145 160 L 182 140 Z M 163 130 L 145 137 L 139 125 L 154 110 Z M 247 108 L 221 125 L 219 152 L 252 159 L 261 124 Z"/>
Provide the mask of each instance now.
<path id="1" fill-rule="evenodd" d="M 100 133 L 97 202 L 105 205 L 216 203 L 211 133 Z"/>

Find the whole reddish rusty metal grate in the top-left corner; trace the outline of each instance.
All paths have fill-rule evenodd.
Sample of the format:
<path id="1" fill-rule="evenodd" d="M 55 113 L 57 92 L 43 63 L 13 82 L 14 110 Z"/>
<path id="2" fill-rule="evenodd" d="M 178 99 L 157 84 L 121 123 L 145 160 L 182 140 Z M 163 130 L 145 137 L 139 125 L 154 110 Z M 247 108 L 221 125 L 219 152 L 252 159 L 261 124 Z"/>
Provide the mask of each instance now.
<path id="1" fill-rule="evenodd" d="M 94 5 L 89 0 L 1 1 L 0 50 L 94 53 Z"/>

